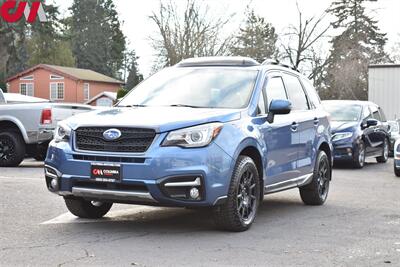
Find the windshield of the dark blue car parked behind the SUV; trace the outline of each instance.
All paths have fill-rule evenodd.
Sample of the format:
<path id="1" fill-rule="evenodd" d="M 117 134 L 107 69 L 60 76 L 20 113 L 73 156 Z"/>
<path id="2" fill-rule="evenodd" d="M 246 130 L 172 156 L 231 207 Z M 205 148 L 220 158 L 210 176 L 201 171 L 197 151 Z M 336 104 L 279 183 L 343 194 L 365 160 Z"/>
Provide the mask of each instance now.
<path id="1" fill-rule="evenodd" d="M 324 107 L 332 121 L 358 121 L 362 110 L 359 105 L 327 104 Z"/>

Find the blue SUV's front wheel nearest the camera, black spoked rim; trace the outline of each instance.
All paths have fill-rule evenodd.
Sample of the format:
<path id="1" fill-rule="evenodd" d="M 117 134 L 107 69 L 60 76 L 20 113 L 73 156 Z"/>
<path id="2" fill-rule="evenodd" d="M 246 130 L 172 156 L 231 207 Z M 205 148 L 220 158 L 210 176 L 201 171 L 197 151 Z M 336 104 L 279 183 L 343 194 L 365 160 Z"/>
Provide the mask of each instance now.
<path id="1" fill-rule="evenodd" d="M 254 161 L 240 156 L 233 171 L 227 201 L 213 207 L 213 217 L 221 230 L 242 232 L 255 220 L 260 203 L 260 178 Z"/>

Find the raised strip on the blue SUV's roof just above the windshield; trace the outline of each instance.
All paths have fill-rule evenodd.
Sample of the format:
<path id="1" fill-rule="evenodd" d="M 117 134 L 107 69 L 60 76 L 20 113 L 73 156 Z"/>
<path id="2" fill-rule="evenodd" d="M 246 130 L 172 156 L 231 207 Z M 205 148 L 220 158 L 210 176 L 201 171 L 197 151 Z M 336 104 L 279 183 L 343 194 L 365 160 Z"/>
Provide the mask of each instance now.
<path id="1" fill-rule="evenodd" d="M 184 59 L 176 67 L 238 66 L 252 67 L 260 63 L 249 57 L 197 57 Z"/>

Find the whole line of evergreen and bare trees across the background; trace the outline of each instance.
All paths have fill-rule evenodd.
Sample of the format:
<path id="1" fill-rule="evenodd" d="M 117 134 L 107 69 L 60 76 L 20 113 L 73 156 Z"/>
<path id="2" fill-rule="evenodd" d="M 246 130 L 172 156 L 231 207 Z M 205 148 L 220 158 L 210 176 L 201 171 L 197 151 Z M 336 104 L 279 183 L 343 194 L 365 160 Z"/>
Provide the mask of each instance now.
<path id="1" fill-rule="evenodd" d="M 305 17 L 297 5 L 298 22 L 280 34 L 251 7 L 238 30 L 227 34 L 232 17 L 213 17 L 204 1 L 186 0 L 183 8 L 160 1 L 149 17 L 157 29 L 150 38 L 156 54 L 153 69 L 200 56 L 277 59 L 308 75 L 324 99 L 365 100 L 368 65 L 399 58 L 395 48 L 385 52 L 387 37 L 366 11 L 368 1 L 335 0 L 313 17 Z M 143 80 L 113 0 L 73 0 L 66 17 L 52 4 L 44 8 L 47 23 L 0 21 L 0 87 L 5 88 L 6 77 L 40 63 L 88 68 L 119 78 L 127 83 L 122 94 Z M 328 35 L 331 32 L 335 34 Z M 324 51 L 327 42 L 331 48 Z"/>

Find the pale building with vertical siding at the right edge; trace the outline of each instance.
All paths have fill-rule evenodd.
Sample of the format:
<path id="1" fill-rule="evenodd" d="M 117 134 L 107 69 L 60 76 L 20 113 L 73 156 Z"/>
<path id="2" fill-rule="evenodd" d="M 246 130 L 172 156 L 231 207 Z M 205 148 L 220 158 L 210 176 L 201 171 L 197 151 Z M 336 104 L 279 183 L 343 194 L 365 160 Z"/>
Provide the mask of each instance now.
<path id="1" fill-rule="evenodd" d="M 400 64 L 368 67 L 368 100 L 382 107 L 388 120 L 400 119 Z"/>

